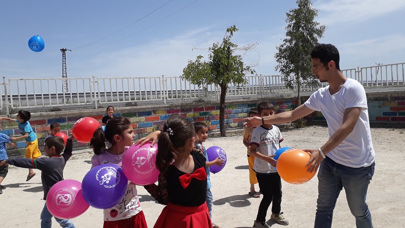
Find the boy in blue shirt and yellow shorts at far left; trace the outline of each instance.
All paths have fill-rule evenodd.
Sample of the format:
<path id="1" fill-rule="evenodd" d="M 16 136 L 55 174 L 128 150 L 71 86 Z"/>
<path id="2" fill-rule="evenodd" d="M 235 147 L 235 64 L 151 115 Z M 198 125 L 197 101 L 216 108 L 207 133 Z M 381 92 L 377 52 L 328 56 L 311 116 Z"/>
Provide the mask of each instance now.
<path id="1" fill-rule="evenodd" d="M 31 113 L 29 111 L 19 110 L 17 114 L 17 119 L 0 117 L 0 122 L 2 120 L 17 121 L 18 128 L 20 129 L 22 136 L 10 137 L 10 140 L 14 141 L 22 138 L 25 139 L 25 142 L 27 143 L 27 147 L 25 148 L 25 158 L 37 159 L 41 157 L 41 151 L 39 151 L 38 149 L 38 139 L 36 138 L 36 134 L 34 133 L 34 131 L 31 128 L 31 125 L 28 122 L 29 119 L 31 119 Z M 33 176 L 35 176 L 33 169 L 28 169 L 28 176 L 25 181 L 30 180 Z"/>

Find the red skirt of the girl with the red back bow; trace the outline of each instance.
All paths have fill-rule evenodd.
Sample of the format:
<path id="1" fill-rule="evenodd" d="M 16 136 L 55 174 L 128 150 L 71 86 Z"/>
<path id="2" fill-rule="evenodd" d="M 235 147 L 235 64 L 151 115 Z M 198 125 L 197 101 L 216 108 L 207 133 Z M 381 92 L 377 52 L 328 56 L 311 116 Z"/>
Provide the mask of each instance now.
<path id="1" fill-rule="evenodd" d="M 207 203 L 195 207 L 169 203 L 161 211 L 153 228 L 212 228 Z"/>

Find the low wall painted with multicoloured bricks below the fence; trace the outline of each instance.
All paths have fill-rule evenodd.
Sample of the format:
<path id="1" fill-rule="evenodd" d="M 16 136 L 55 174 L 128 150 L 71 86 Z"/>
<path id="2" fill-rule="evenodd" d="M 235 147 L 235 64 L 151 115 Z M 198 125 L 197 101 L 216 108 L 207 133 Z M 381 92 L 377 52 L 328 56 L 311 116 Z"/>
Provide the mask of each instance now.
<path id="1" fill-rule="evenodd" d="M 260 100 L 258 102 L 262 102 Z M 302 101 L 302 103 L 305 100 Z M 284 100 L 271 102 L 276 113 L 290 111 L 297 107 L 297 100 Z M 258 103 L 248 104 L 230 104 L 225 106 L 225 128 L 238 128 L 242 127 L 242 119 L 248 117 L 248 112 L 251 108 L 257 107 Z M 370 97 L 368 98 L 369 117 L 370 121 L 374 123 L 390 123 L 390 124 L 405 124 L 405 97 Z M 157 109 L 150 111 L 138 112 L 123 112 L 114 113 L 114 116 L 122 116 L 129 118 L 134 128 L 136 138 L 142 138 L 149 133 L 159 130 L 166 119 L 171 115 L 178 114 L 182 117 L 189 119 L 191 122 L 204 122 L 208 125 L 209 130 L 219 129 L 219 106 L 205 106 L 205 107 L 187 107 L 176 109 Z M 102 115 L 89 116 L 99 121 L 101 125 Z M 71 129 L 74 123 L 82 117 L 72 116 L 66 118 L 52 118 L 43 120 L 32 120 L 30 124 L 33 131 L 36 133 L 39 145 L 43 145 L 43 140 L 48 135 L 50 128 L 49 125 L 56 121 L 61 124 L 61 132 L 64 134 L 71 134 Z M 307 116 L 308 121 L 325 121 L 321 112 L 313 112 Z M 3 122 L 2 130 L 10 136 L 19 135 L 17 122 Z M 87 143 L 78 143 L 79 146 L 87 146 Z M 24 140 L 17 142 L 17 151 L 23 155 L 25 152 L 26 143 Z M 42 148 L 41 148 L 42 150 Z"/>

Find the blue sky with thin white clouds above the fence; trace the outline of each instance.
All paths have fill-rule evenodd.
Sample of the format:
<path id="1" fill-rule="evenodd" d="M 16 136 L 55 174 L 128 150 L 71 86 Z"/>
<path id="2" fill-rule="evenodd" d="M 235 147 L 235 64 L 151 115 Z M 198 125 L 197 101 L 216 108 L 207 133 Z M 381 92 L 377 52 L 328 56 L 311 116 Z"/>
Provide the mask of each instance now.
<path id="1" fill-rule="evenodd" d="M 239 29 L 234 43 L 259 43 L 245 55 L 245 63 L 259 62 L 254 67 L 258 74 L 278 74 L 275 47 L 285 37 L 286 12 L 297 7 L 295 1 L 169 1 L 3 1 L 0 76 L 59 78 L 61 48 L 72 50 L 66 53 L 68 77 L 178 76 L 188 60 L 208 58 L 207 50 L 193 48 L 221 42 L 233 24 Z M 341 69 L 405 62 L 405 1 L 313 4 L 319 9 L 316 20 L 328 26 L 319 42 L 339 49 Z M 28 47 L 29 38 L 37 34 L 45 41 L 38 53 Z"/>

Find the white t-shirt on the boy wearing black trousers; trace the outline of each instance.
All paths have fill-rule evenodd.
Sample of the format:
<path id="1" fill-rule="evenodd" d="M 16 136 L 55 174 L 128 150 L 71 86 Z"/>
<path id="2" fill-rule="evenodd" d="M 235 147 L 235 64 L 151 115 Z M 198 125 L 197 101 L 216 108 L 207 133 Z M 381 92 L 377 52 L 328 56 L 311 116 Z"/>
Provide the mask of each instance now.
<path id="1" fill-rule="evenodd" d="M 280 129 L 272 125 L 270 129 L 257 127 L 253 130 L 251 144 L 257 145 L 256 151 L 262 155 L 274 155 L 275 151 L 280 148 L 282 142 Z M 258 173 L 275 173 L 277 168 L 270 165 L 270 163 L 261 159 L 255 158 L 255 165 L 253 170 Z"/>

